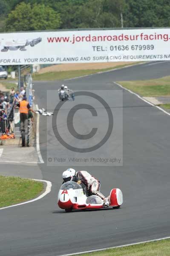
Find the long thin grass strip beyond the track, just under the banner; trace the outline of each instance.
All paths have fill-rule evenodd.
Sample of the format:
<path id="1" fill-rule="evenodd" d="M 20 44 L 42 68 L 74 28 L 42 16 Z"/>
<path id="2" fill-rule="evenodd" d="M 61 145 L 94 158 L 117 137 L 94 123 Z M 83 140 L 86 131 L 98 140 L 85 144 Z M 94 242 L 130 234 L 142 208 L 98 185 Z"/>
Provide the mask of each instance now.
<path id="1" fill-rule="evenodd" d="M 139 62 L 135 62 L 134 64 L 138 64 Z M 96 70 L 69 70 L 69 71 L 59 71 L 59 72 L 47 72 L 43 74 L 33 74 L 33 79 L 37 81 L 49 81 L 49 80 L 62 80 L 62 79 L 69 79 L 78 76 L 86 76 L 95 74 L 98 72 L 104 72 L 113 70 L 115 68 L 126 67 L 127 65 L 134 65 L 134 64 L 124 64 L 118 65 L 116 67 L 109 67 L 106 69 L 96 69 Z"/>

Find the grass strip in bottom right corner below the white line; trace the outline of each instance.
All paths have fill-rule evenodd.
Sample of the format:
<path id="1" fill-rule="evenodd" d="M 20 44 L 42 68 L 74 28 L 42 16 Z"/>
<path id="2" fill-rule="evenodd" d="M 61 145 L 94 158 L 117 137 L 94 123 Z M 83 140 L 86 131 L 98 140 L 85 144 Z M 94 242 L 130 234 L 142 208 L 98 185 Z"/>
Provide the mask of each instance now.
<path id="1" fill-rule="evenodd" d="M 79 256 L 170 256 L 170 239 L 79 254 Z"/>

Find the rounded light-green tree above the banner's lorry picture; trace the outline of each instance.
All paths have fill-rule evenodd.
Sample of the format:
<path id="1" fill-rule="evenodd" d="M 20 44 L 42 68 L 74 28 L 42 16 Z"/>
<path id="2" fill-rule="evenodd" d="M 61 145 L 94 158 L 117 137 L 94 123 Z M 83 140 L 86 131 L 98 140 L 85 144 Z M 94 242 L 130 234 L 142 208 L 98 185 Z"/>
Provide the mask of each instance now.
<path id="1" fill-rule="evenodd" d="M 6 19 L 7 31 L 58 29 L 60 15 L 44 4 L 20 3 Z"/>

